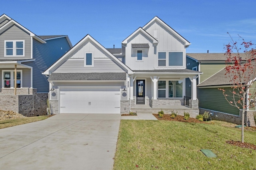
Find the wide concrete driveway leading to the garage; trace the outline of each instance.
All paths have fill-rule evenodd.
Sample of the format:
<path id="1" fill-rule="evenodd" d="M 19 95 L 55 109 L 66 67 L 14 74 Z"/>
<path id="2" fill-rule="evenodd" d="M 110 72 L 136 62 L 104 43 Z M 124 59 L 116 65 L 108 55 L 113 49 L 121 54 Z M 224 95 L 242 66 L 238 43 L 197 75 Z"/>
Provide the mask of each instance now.
<path id="1" fill-rule="evenodd" d="M 0 129 L 1 170 L 111 170 L 120 114 L 58 114 Z"/>

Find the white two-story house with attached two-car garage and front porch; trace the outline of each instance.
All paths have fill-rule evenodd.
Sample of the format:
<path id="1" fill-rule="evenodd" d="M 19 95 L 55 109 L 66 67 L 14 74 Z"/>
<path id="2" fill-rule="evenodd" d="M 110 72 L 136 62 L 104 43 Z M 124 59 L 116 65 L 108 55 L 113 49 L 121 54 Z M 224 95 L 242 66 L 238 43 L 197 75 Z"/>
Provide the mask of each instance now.
<path id="1" fill-rule="evenodd" d="M 106 49 L 86 35 L 44 74 L 51 86 L 53 113 L 129 113 L 140 108 L 184 109 L 198 114 L 196 77 L 186 69 L 190 43 L 154 17 L 124 41 Z M 190 107 L 184 106 L 185 79 L 190 78 Z"/>

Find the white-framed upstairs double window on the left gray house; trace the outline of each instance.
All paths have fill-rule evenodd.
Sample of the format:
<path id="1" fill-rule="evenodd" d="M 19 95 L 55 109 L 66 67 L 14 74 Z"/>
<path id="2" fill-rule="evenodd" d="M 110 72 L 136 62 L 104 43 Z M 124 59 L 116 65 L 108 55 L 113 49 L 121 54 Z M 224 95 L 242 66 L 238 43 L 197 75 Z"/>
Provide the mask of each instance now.
<path id="1" fill-rule="evenodd" d="M 24 40 L 4 41 L 5 57 L 23 57 L 24 56 Z"/>

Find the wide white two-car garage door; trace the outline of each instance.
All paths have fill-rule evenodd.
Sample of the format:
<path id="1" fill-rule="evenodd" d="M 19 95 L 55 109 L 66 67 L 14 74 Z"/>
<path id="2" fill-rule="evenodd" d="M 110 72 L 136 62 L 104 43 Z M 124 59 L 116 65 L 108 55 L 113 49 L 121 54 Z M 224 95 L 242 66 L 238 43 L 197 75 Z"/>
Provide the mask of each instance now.
<path id="1" fill-rule="evenodd" d="M 120 113 L 120 87 L 61 87 L 60 113 Z"/>

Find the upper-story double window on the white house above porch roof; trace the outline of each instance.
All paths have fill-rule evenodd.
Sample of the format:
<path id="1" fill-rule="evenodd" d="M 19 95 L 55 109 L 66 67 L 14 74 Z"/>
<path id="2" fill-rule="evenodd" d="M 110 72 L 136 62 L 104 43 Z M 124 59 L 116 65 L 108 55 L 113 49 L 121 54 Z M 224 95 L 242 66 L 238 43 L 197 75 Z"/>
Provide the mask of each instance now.
<path id="1" fill-rule="evenodd" d="M 183 52 L 158 52 L 158 66 L 166 66 L 166 63 L 168 66 L 183 66 Z"/>

